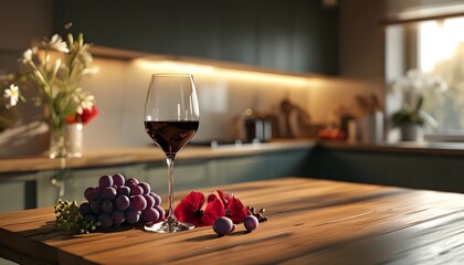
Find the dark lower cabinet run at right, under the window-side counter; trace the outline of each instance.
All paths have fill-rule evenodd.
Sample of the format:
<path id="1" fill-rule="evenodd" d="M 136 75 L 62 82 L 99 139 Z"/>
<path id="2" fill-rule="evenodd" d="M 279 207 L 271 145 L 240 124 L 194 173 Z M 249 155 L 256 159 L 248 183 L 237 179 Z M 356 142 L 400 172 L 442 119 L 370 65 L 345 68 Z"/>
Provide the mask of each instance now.
<path id="1" fill-rule="evenodd" d="M 317 171 L 324 179 L 464 192 L 462 156 L 318 147 Z"/>

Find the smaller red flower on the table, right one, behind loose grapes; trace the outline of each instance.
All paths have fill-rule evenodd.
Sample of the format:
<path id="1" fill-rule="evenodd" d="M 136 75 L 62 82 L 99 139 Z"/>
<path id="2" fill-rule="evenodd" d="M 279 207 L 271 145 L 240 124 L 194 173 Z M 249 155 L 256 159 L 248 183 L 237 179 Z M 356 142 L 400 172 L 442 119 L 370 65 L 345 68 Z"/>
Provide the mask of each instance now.
<path id="1" fill-rule="evenodd" d="M 243 203 L 232 193 L 224 193 L 221 190 L 217 190 L 219 199 L 222 201 L 225 208 L 225 216 L 230 218 L 233 223 L 243 223 L 250 211 L 243 206 Z M 208 202 L 217 199 L 214 194 L 208 197 Z"/>

